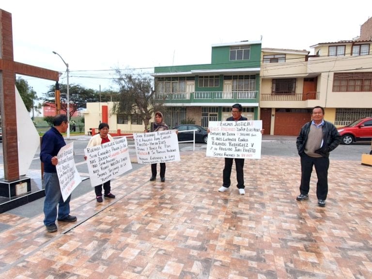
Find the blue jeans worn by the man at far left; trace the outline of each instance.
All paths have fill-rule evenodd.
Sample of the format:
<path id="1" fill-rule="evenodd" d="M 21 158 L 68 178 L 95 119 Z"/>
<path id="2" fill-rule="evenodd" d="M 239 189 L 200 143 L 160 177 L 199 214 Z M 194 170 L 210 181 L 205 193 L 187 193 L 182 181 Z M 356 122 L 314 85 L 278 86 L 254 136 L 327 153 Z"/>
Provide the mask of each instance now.
<path id="1" fill-rule="evenodd" d="M 64 219 L 70 214 L 71 195 L 65 202 L 63 202 L 57 172 L 44 172 L 44 185 L 44 225 L 49 226 L 55 224 L 57 217 L 57 204 L 59 204 L 58 219 Z"/>

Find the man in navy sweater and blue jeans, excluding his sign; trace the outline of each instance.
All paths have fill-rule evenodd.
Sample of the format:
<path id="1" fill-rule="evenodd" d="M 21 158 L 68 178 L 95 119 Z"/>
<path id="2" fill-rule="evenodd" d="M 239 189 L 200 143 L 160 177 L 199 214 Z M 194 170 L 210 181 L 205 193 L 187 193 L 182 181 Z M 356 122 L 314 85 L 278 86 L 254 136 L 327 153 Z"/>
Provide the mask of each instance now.
<path id="1" fill-rule="evenodd" d="M 66 145 L 62 133 L 68 128 L 67 115 L 58 114 L 53 118 L 51 127 L 43 136 L 40 147 L 40 160 L 44 163 L 44 225 L 48 233 L 57 231 L 55 224 L 58 207 L 58 221 L 75 222 L 77 217 L 70 215 L 71 195 L 63 202 L 60 182 L 58 180 L 56 166 L 58 164 L 57 154 Z"/>

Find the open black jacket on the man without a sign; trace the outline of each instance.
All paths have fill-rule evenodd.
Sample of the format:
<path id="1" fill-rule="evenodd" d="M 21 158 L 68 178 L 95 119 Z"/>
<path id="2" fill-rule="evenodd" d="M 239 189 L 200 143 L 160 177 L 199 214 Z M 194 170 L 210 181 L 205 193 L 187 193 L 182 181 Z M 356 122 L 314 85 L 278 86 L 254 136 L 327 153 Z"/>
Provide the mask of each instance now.
<path id="1" fill-rule="evenodd" d="M 305 153 L 305 145 L 308 140 L 308 135 L 310 131 L 311 121 L 302 126 L 300 134 L 296 140 L 296 146 L 298 155 L 303 155 Z M 329 152 L 335 149 L 341 143 L 341 135 L 337 131 L 336 127 L 328 122 L 324 121 L 322 126 L 323 132 L 323 145 L 318 150 L 315 150 L 315 153 L 322 155 L 323 157 L 328 157 Z"/>

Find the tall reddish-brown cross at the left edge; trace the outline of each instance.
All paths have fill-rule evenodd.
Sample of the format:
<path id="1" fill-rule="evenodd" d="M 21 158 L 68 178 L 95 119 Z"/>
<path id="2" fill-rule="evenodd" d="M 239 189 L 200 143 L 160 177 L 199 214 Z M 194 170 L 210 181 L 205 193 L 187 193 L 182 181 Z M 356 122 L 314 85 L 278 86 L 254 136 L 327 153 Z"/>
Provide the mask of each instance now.
<path id="1" fill-rule="evenodd" d="M 19 179 L 16 74 L 55 81 L 59 78 L 57 71 L 14 61 L 12 14 L 0 9 L 0 109 L 5 181 Z"/>

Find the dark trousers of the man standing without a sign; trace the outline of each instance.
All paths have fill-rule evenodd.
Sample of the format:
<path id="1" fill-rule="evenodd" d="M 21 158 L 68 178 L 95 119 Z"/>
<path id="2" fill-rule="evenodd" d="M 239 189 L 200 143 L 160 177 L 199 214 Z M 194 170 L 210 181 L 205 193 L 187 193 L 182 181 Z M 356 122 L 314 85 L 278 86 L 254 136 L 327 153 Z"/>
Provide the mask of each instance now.
<path id="1" fill-rule="evenodd" d="M 316 184 L 316 197 L 325 200 L 328 194 L 328 157 L 310 157 L 306 154 L 301 156 L 301 185 L 300 193 L 307 195 L 310 190 L 310 177 L 312 166 L 315 167 L 318 182 Z"/>

